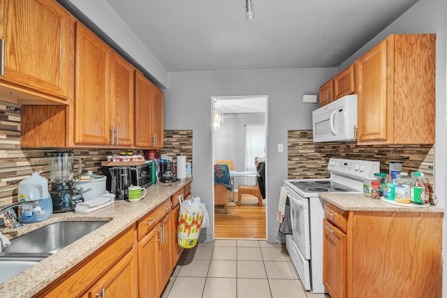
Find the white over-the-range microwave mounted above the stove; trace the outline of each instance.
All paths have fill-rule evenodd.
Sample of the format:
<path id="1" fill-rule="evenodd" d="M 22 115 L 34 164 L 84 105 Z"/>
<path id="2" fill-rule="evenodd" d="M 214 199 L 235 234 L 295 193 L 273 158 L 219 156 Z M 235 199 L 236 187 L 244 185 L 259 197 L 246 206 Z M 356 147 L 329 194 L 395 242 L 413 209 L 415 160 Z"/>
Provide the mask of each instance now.
<path id="1" fill-rule="evenodd" d="M 357 96 L 346 95 L 312 112 L 314 142 L 356 140 Z"/>

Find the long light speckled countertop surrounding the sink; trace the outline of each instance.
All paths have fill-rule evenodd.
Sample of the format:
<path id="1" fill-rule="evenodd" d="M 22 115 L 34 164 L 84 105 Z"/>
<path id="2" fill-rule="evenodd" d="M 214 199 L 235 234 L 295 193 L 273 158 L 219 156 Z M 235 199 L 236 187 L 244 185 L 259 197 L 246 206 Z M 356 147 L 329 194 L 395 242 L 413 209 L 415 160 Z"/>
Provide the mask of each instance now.
<path id="1" fill-rule="evenodd" d="M 173 186 L 161 186 L 155 184 L 146 188 L 145 198 L 138 202 L 116 200 L 108 207 L 98 209 L 89 214 L 75 214 L 64 212 L 53 214 L 51 218 L 40 223 L 26 223 L 19 232 L 8 233 L 8 228 L 1 229 L 7 237 L 19 236 L 36 230 L 50 223 L 59 221 L 109 221 L 100 228 L 78 239 L 72 244 L 62 248 L 54 255 L 41 260 L 36 265 L 29 267 L 21 274 L 0 285 L 0 297 L 31 297 L 50 285 L 59 276 L 87 258 L 91 253 L 101 248 L 130 225 L 145 216 L 149 211 L 170 198 L 182 188 L 188 181 L 177 181 Z"/>

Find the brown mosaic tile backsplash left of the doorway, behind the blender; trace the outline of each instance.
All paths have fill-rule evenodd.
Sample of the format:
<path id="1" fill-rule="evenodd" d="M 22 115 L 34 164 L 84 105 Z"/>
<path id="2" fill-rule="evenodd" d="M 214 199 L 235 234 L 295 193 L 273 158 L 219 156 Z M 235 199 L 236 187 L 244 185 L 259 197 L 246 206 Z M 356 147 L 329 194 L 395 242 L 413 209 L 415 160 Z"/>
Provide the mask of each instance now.
<path id="1" fill-rule="evenodd" d="M 186 155 L 186 162 L 192 163 L 192 131 L 164 131 L 164 148 L 158 156 L 166 154 Z M 17 201 L 17 188 L 20 181 L 33 172 L 43 171 L 43 177 L 50 179 L 47 152 L 55 150 L 73 151 L 82 160 L 82 172 L 87 170 L 102 172 L 101 161 L 106 156 L 119 154 L 126 149 L 89 149 L 89 148 L 45 148 L 20 149 L 20 106 L 0 102 L 0 206 Z M 142 150 L 129 149 L 135 154 Z M 77 166 L 75 167 L 77 170 Z"/>

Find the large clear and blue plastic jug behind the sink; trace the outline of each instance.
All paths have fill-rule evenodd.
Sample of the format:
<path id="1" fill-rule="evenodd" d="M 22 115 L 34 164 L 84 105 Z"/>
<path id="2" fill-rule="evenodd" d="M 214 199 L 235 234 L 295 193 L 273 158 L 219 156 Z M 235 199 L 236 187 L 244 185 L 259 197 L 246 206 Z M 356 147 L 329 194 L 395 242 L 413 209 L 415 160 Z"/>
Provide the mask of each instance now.
<path id="1" fill-rule="evenodd" d="M 18 207 L 17 216 L 20 223 L 38 223 L 53 214 L 53 203 L 48 192 L 48 180 L 41 177 L 41 172 L 34 172 L 31 177 L 20 181 L 18 189 L 19 202 L 38 200 L 36 207 L 22 205 Z"/>

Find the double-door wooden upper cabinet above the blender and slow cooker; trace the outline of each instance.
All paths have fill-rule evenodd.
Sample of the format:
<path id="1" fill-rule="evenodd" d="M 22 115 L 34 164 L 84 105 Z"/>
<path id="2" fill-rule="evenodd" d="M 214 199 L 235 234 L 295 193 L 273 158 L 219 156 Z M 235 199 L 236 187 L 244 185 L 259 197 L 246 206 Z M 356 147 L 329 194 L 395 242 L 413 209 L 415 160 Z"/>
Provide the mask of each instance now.
<path id="1" fill-rule="evenodd" d="M 76 23 L 75 144 L 133 146 L 135 68 Z"/>

